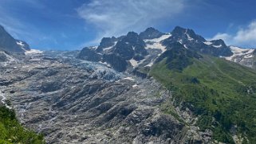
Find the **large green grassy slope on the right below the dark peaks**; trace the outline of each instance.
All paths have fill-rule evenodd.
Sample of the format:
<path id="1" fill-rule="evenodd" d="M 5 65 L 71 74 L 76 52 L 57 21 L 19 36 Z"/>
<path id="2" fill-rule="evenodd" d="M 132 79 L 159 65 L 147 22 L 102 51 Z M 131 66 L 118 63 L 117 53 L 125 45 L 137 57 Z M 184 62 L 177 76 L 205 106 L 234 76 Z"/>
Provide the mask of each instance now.
<path id="1" fill-rule="evenodd" d="M 168 69 L 166 60 L 154 64 L 150 74 L 174 91 L 176 99 L 195 106 L 191 109 L 201 115 L 201 129 L 209 128 L 215 139 L 232 143 L 230 127 L 237 125 L 238 134 L 256 143 L 255 71 L 211 56 L 191 58 L 191 65 L 177 71 Z"/>

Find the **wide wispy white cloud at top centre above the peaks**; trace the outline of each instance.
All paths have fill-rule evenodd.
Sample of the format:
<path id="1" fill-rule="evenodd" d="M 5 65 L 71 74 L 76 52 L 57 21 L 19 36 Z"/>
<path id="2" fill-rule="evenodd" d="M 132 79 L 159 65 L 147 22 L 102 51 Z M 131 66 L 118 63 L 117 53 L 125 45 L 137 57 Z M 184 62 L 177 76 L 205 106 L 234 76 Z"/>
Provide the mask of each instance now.
<path id="1" fill-rule="evenodd" d="M 140 32 L 157 22 L 174 18 L 183 11 L 185 0 L 94 0 L 83 4 L 77 13 L 96 26 L 100 37 Z"/>

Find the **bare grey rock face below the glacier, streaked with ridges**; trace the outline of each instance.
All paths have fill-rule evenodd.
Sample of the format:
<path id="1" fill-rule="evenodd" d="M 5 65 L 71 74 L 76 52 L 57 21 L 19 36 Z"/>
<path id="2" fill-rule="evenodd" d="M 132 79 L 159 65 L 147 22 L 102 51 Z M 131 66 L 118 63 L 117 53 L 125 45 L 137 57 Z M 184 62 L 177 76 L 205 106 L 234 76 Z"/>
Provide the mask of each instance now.
<path id="1" fill-rule="evenodd" d="M 151 78 L 70 57 L 32 55 L 0 66 L 1 91 L 47 143 L 208 142 L 191 113 L 174 109 L 178 120 L 161 110 L 171 92 Z"/>

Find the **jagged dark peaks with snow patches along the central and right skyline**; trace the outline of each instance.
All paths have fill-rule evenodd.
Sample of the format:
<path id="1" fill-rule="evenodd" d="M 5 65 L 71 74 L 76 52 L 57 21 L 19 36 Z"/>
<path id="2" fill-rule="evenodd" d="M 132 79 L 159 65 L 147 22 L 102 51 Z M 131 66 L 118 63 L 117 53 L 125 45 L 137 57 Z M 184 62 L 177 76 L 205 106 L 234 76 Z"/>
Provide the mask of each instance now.
<path id="1" fill-rule="evenodd" d="M 119 72 L 135 72 L 151 67 L 156 58 L 172 44 L 179 42 L 186 49 L 211 56 L 225 57 L 226 60 L 254 68 L 254 49 L 238 50 L 227 46 L 223 40 L 207 41 L 192 29 L 176 26 L 171 33 L 162 33 L 148 28 L 140 34 L 129 32 L 122 37 L 104 37 L 99 46 L 86 47 L 77 56 L 82 60 L 100 61 L 109 64 Z"/>

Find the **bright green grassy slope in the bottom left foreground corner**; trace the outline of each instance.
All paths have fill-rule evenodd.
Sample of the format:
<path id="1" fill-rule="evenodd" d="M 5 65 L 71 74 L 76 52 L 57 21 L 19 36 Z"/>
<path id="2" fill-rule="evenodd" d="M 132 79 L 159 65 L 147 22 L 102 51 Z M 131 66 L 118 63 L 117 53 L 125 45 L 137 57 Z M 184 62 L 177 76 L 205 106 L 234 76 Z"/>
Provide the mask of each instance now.
<path id="1" fill-rule="evenodd" d="M 15 117 L 13 110 L 0 106 L 0 144 L 45 143 L 41 134 L 26 130 Z"/>

